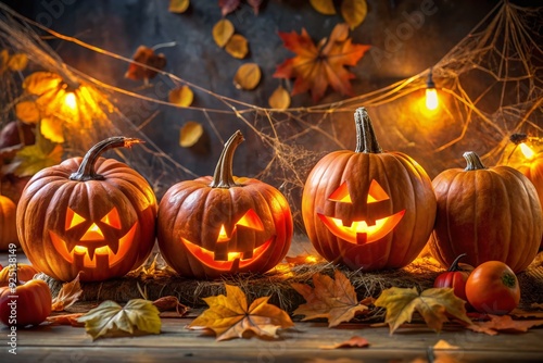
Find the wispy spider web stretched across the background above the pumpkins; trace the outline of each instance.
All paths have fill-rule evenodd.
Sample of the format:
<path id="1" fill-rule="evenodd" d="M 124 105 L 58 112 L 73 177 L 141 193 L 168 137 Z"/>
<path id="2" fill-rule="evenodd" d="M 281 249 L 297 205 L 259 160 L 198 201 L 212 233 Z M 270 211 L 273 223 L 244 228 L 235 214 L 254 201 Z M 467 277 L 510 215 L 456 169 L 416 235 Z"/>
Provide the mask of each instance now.
<path id="1" fill-rule="evenodd" d="M 103 84 L 72 68 L 36 32 L 115 61 L 134 61 L 45 28 L 1 3 L 0 46 L 24 52 L 43 70 L 55 72 L 65 79 L 91 84 L 104 98 L 114 96 L 117 100 L 108 118 L 93 120 L 96 127 L 85 133 L 77 129 L 70 133 L 65 142 L 66 157 L 80 155 L 112 133 L 139 137 L 147 141 L 143 148 L 117 151 L 118 157 L 146 176 L 161 198 L 169 186 L 199 175 L 194 165 L 176 160 L 143 132 L 156 114 L 172 110 L 200 114 L 220 141 L 230 135 L 220 135 L 216 123 L 231 123 L 232 132 L 242 127 L 250 142 L 245 153 L 236 157 L 237 162 L 243 164 L 244 158 L 245 164 L 251 165 L 248 176 L 278 187 L 289 199 L 300 223 L 301 190 L 313 165 L 332 150 L 354 150 L 353 113 L 358 107 L 368 109 L 383 149 L 409 154 L 430 177 L 445 168 L 463 167 L 462 154 L 468 150 L 476 151 L 487 166 L 520 162 L 516 146 L 509 141 L 510 135 L 526 133 L 539 137 L 543 132 L 541 18 L 543 8 L 520 8 L 508 1 L 498 3 L 433 65 L 441 102 L 439 112 L 433 114 L 421 107 L 428 71 L 343 101 L 273 110 L 214 93 L 175 74 L 155 70 L 173 87 L 188 85 L 200 93 L 199 97 L 212 99 L 216 104 L 214 108 L 180 108 L 153 95 Z M 22 77 L 7 73 L 1 77 L 5 90 L 1 96 L 5 105 L 2 108 L 4 120 L 13 112 Z M 127 109 L 128 103 L 131 105 Z M 138 118 L 134 115 L 138 104 L 153 104 L 148 107 L 153 111 Z M 210 158 L 216 160 L 218 154 Z"/>

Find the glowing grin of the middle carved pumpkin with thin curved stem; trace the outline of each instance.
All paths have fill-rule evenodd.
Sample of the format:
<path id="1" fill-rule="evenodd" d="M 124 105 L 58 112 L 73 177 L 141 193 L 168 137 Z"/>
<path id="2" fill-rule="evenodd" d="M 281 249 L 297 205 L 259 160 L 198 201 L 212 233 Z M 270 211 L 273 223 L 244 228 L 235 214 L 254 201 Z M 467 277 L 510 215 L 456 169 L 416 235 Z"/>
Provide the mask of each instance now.
<path id="1" fill-rule="evenodd" d="M 237 272 L 239 268 L 250 265 L 253 261 L 258 259 L 272 245 L 275 237 L 268 239 L 264 245 L 255 248 L 250 258 L 243 259 L 244 252 L 228 252 L 228 261 L 215 261 L 215 252 L 201 248 L 181 237 L 181 241 L 187 250 L 198 259 L 200 262 L 214 270 L 225 272 Z"/>

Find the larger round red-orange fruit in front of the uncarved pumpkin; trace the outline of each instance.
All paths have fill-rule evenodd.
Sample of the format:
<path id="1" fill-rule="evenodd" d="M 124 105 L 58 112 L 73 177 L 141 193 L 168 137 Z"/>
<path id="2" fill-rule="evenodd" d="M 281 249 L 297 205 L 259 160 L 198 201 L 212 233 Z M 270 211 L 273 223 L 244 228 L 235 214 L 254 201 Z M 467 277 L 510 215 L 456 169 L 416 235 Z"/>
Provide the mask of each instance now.
<path id="1" fill-rule="evenodd" d="M 509 266 L 501 261 L 487 261 L 469 275 L 466 296 L 477 311 L 504 315 L 517 308 L 520 287 Z"/>

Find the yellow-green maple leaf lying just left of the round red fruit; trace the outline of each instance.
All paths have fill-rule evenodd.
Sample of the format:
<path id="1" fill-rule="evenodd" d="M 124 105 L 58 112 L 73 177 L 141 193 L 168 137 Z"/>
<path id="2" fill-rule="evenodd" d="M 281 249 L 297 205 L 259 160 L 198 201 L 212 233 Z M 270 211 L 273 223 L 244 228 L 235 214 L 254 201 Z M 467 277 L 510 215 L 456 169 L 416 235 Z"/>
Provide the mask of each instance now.
<path id="1" fill-rule="evenodd" d="M 440 331 L 447 314 L 462 322 L 471 324 L 466 315 L 465 301 L 455 297 L 451 288 L 431 288 L 418 293 L 414 288 L 391 287 L 383 290 L 375 305 L 387 309 L 384 322 L 389 324 L 392 335 L 400 325 L 409 323 L 415 311 L 425 320 L 428 327 Z"/>

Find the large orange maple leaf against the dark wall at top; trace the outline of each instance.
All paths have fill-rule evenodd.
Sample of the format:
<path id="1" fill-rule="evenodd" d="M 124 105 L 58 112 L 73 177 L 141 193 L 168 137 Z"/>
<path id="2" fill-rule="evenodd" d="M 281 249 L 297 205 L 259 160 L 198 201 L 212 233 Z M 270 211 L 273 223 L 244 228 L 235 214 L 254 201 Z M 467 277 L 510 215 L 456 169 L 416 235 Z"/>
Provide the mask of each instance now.
<path id="1" fill-rule="evenodd" d="M 277 66 L 274 77 L 296 78 L 292 95 L 311 90 L 314 102 L 317 102 L 328 86 L 344 96 L 353 96 L 350 79 L 354 74 L 345 66 L 356 65 L 364 53 L 370 48 L 366 45 L 352 43 L 349 38 L 349 25 L 338 24 L 329 39 L 323 39 L 315 46 L 307 32 L 279 32 L 285 48 L 296 53 L 296 57 L 286 60 Z"/>

